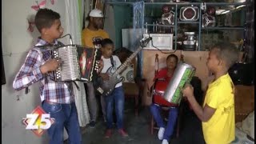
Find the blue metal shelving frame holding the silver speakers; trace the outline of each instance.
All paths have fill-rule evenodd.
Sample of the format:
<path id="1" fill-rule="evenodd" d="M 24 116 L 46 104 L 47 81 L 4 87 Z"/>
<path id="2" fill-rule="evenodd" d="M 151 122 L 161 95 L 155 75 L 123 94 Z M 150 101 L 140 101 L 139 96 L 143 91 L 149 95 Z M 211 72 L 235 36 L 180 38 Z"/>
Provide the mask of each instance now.
<path id="1" fill-rule="evenodd" d="M 110 1 L 108 2 L 109 5 L 120 5 L 120 6 L 126 6 L 126 5 L 132 5 L 134 2 L 114 2 Z M 174 25 L 166 26 L 166 25 L 158 25 L 158 26 L 164 26 L 164 27 L 172 27 L 174 29 L 174 50 L 177 50 L 177 35 L 178 35 L 178 25 L 180 24 L 193 24 L 193 25 L 198 25 L 198 31 L 196 32 L 198 34 L 198 48 L 197 50 L 202 50 L 201 44 L 202 44 L 202 31 L 210 31 L 210 30 L 244 30 L 244 26 L 214 26 L 214 27 L 202 27 L 202 10 L 201 10 L 201 5 L 202 2 L 144 2 L 145 6 L 145 11 L 147 6 L 163 6 L 163 5 L 170 5 L 174 6 Z M 182 6 L 198 6 L 199 8 L 199 18 L 198 21 L 196 22 L 183 22 L 183 21 L 178 21 L 178 14 L 179 14 L 179 9 Z M 246 5 L 246 2 L 206 2 L 206 6 L 241 6 L 241 5 Z M 246 7 L 246 6 L 245 6 Z M 146 18 L 149 18 L 146 16 L 146 12 L 144 11 L 144 15 Z M 152 18 L 156 18 L 151 16 Z M 145 18 L 144 18 L 145 22 Z M 144 24 L 144 26 L 155 26 L 152 23 L 147 23 Z"/>

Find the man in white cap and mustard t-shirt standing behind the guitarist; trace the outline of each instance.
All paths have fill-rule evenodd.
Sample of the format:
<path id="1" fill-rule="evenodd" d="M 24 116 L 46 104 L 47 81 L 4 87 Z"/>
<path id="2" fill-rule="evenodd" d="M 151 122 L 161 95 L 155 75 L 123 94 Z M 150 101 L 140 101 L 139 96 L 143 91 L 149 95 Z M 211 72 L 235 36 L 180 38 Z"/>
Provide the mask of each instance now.
<path id="1" fill-rule="evenodd" d="M 104 38 L 109 38 L 109 34 L 106 33 L 105 30 L 102 30 L 102 22 L 103 14 L 101 10 L 94 9 L 90 11 L 89 14 L 89 24 L 88 26 L 82 30 L 82 45 L 91 48 L 100 48 L 100 42 Z M 95 121 L 98 112 L 98 104 L 94 93 L 93 83 L 86 83 L 86 93 L 88 95 L 88 106 L 90 113 L 90 127 L 95 126 Z M 102 103 L 102 113 L 103 118 L 105 119 L 105 102 L 103 98 L 101 98 Z"/>

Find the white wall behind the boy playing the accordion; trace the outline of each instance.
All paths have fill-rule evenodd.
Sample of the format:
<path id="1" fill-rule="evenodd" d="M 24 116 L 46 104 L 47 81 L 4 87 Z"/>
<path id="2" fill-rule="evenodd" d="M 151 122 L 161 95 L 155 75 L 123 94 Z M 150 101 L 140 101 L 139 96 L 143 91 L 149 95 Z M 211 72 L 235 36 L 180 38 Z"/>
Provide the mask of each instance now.
<path id="1" fill-rule="evenodd" d="M 65 1 L 54 2 L 54 5 L 51 5 L 50 0 L 47 0 L 46 7 L 61 14 L 62 26 L 66 29 Z M 39 138 L 22 125 L 22 118 L 26 118 L 26 114 L 30 114 L 38 105 L 41 106 L 38 85 L 30 86 L 29 94 L 25 94 L 25 90 L 14 91 L 12 87 L 14 77 L 22 66 L 26 54 L 39 36 L 35 26 L 33 33 L 27 30 L 27 18 L 36 14 L 36 11 L 30 8 L 32 5 L 36 5 L 34 0 L 2 0 L 2 53 L 6 74 L 6 84 L 2 85 L 3 144 L 48 143 L 46 133 Z M 68 44 L 69 41 L 63 39 L 62 42 Z"/>

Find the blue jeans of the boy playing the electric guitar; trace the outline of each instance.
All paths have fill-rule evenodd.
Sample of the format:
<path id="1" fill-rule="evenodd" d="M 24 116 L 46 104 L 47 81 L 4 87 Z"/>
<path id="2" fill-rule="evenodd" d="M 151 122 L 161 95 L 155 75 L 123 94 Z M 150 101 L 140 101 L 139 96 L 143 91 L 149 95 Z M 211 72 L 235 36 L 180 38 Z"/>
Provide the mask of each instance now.
<path id="1" fill-rule="evenodd" d="M 124 109 L 124 92 L 122 86 L 114 89 L 113 93 L 104 97 L 106 102 L 106 127 L 112 129 L 113 127 L 113 106 L 117 117 L 117 127 L 122 129 L 123 109 Z"/>

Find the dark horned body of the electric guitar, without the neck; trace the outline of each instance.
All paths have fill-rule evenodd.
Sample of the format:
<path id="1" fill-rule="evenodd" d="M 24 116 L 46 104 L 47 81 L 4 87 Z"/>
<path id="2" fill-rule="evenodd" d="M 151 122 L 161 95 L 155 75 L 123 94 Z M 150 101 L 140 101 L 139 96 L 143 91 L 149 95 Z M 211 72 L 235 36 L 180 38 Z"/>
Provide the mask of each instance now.
<path id="1" fill-rule="evenodd" d="M 100 94 L 102 94 L 102 96 L 107 96 L 109 94 L 112 94 L 114 87 L 119 83 L 122 82 L 123 77 L 118 78 L 118 77 L 114 77 L 113 76 L 113 69 L 112 67 L 110 67 L 107 71 L 106 74 L 108 74 L 110 76 L 110 78 L 106 81 L 102 81 L 100 83 L 100 85 L 98 87 L 96 87 L 96 90 L 98 90 L 98 92 Z"/>

